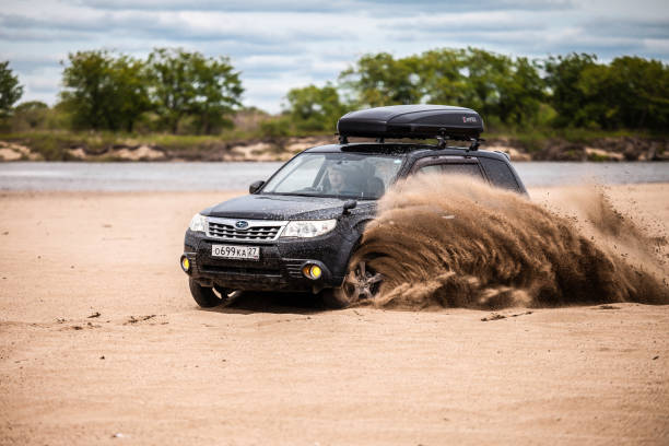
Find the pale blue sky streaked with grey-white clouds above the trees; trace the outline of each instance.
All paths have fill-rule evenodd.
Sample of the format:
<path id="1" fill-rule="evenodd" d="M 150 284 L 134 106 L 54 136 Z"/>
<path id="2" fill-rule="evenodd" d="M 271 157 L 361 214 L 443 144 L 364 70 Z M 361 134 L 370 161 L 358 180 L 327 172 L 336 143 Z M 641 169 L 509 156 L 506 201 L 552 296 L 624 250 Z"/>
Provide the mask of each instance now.
<path id="1" fill-rule="evenodd" d="M 278 113 L 290 89 L 336 81 L 365 54 L 468 46 L 669 62 L 669 0 L 0 0 L 0 61 L 19 74 L 22 101 L 50 105 L 61 61 L 78 50 L 227 56 L 240 71 L 243 103 Z"/>

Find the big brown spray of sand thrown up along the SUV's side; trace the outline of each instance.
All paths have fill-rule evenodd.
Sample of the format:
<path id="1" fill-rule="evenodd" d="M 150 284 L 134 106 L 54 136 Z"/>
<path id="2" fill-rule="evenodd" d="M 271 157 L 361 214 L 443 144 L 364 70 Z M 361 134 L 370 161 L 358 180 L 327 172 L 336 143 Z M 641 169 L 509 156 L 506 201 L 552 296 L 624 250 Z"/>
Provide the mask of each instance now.
<path id="1" fill-rule="evenodd" d="M 669 304 L 658 240 L 601 192 L 575 213 L 467 177 L 422 175 L 388 191 L 353 261 L 384 282 L 372 304 L 503 308 L 638 302 Z"/>

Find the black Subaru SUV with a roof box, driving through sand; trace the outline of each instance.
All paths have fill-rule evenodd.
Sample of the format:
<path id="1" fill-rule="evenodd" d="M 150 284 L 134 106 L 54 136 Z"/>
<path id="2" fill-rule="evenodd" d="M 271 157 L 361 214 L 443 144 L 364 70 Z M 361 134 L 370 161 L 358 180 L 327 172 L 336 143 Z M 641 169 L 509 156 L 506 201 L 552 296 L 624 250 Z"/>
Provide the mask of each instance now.
<path id="1" fill-rule="evenodd" d="M 507 155 L 479 151 L 481 117 L 441 105 L 378 107 L 344 115 L 339 144 L 305 150 L 250 195 L 204 209 L 186 231 L 181 268 L 202 307 L 237 291 L 310 291 L 334 307 L 374 296 L 383 278 L 349 265 L 376 200 L 416 173 L 468 174 L 527 193 Z M 349 143 L 349 137 L 376 142 Z M 437 144 L 385 142 L 434 139 Z M 447 140 L 469 141 L 451 148 Z"/>

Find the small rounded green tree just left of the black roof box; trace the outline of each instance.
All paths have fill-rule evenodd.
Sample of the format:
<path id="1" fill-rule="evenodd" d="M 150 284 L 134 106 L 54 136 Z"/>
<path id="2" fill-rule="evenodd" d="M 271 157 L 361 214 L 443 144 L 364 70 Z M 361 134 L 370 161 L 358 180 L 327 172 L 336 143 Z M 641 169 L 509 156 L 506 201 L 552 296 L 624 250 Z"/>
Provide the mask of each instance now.
<path id="1" fill-rule="evenodd" d="M 308 85 L 293 89 L 287 95 L 289 113 L 294 126 L 304 131 L 334 131 L 337 120 L 347 111 L 337 89 L 331 84 L 324 87 Z"/>

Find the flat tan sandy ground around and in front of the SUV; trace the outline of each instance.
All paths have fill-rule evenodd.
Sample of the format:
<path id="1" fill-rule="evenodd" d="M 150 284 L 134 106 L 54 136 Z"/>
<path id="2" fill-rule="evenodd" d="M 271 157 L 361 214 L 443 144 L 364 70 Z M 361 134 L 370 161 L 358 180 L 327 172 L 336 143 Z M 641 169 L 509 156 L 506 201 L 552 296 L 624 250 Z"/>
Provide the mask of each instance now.
<path id="1" fill-rule="evenodd" d="M 238 193 L 0 192 L 1 445 L 669 443 L 669 306 L 199 309 L 185 227 Z M 609 193 L 666 235 L 669 184 Z"/>

